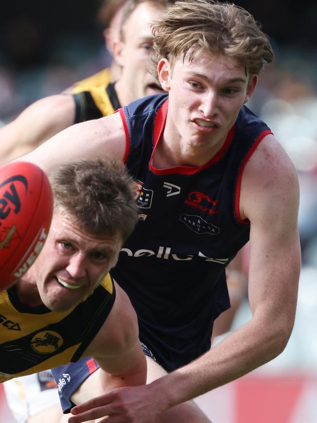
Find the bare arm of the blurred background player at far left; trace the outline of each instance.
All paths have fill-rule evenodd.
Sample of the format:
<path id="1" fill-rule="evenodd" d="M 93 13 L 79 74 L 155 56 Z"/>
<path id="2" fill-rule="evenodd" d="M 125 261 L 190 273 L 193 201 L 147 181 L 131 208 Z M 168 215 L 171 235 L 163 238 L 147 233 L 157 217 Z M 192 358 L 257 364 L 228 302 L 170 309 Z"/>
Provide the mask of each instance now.
<path id="1" fill-rule="evenodd" d="M 36 101 L 0 128 L 0 164 L 29 153 L 74 120 L 73 96 L 59 94 Z"/>

